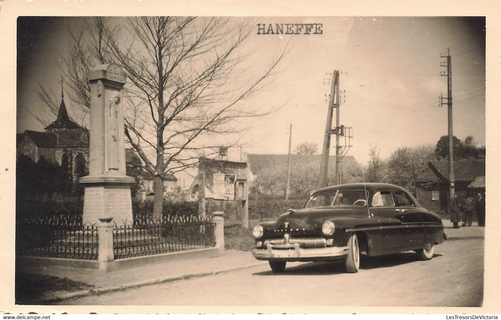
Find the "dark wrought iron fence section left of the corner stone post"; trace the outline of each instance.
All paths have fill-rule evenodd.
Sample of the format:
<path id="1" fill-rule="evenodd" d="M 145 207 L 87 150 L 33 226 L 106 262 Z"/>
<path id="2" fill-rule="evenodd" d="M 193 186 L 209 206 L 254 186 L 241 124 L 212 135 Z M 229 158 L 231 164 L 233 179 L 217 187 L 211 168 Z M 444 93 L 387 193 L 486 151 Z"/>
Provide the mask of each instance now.
<path id="1" fill-rule="evenodd" d="M 40 216 L 16 222 L 16 254 L 97 260 L 98 227 L 78 216 Z"/>

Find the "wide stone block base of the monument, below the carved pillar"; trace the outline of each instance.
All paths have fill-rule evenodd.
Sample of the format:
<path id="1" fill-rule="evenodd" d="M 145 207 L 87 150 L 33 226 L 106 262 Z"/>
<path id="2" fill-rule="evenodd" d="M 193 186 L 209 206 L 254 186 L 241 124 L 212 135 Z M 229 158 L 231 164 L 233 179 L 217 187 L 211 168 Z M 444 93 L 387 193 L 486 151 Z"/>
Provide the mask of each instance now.
<path id="1" fill-rule="evenodd" d="M 84 185 L 83 223 L 98 223 L 99 218 L 113 218 L 117 224 L 132 224 L 129 176 L 94 175 L 80 178 Z"/>

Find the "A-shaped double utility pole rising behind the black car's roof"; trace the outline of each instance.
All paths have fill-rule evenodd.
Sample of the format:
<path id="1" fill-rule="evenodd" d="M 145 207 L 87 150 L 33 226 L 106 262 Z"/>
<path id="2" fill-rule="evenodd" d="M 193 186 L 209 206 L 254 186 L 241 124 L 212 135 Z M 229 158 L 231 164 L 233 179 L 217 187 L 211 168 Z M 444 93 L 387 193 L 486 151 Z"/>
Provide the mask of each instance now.
<path id="1" fill-rule="evenodd" d="M 320 161 L 320 176 L 318 179 L 318 187 L 323 188 L 327 186 L 327 173 L 329 172 L 329 152 L 331 148 L 331 134 L 335 131 L 332 130 L 332 117 L 334 113 L 334 108 L 336 108 L 336 128 L 339 127 L 339 71 L 334 71 L 332 75 L 331 82 L 331 93 L 329 95 L 329 106 L 327 111 L 327 123 L 325 124 L 325 135 L 324 135 L 324 145 L 322 148 L 322 158 Z M 339 143 L 339 136 L 336 135 L 336 143 Z M 338 154 L 338 149 L 336 145 L 336 155 Z M 336 170 L 337 170 L 336 161 Z M 336 182 L 338 180 L 336 171 Z"/>

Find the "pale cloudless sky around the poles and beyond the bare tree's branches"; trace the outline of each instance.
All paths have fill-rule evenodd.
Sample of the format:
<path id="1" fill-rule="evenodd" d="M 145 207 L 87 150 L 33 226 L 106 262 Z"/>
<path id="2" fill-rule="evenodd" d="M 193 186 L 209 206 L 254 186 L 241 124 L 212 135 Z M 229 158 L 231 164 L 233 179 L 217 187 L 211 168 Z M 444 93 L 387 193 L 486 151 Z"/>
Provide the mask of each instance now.
<path id="1" fill-rule="evenodd" d="M 43 131 L 30 114 L 53 121 L 34 88 L 42 83 L 60 96 L 57 68 L 67 54 L 68 30 L 78 18 L 18 20 L 17 132 Z M 280 111 L 252 124 L 241 139 L 247 153 L 287 154 L 313 142 L 322 152 L 328 97 L 340 72 L 340 124 L 352 128 L 347 155 L 362 165 L 376 147 L 386 159 L 399 147 L 435 145 L 447 134 L 447 94 L 441 67 L 449 50 L 452 66 L 453 133 L 485 145 L 485 20 L 462 17 L 265 17 L 261 24 L 322 24 L 322 34 L 258 35 L 245 45 L 249 72 L 258 73 L 289 43 L 290 52 L 266 90 L 242 103 Z M 234 18 L 238 23 L 242 18 Z M 71 103 L 65 100 L 70 115 Z M 335 119 L 333 119 L 335 123 Z M 331 155 L 335 153 L 331 143 Z"/>

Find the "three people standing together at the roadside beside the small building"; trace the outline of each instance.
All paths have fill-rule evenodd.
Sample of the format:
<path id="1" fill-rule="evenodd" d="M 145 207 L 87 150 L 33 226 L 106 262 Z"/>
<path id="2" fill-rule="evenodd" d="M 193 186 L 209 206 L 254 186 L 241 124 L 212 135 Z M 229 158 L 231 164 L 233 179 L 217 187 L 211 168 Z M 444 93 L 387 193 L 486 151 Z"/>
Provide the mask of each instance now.
<path id="1" fill-rule="evenodd" d="M 476 214 L 478 226 L 485 226 L 485 196 L 477 193 L 476 198 L 469 196 L 466 199 L 458 198 L 457 194 L 454 196 L 449 204 L 450 221 L 454 228 L 459 228 L 459 223 L 462 221 L 461 226 L 470 227 L 473 220 L 473 215 Z"/>

